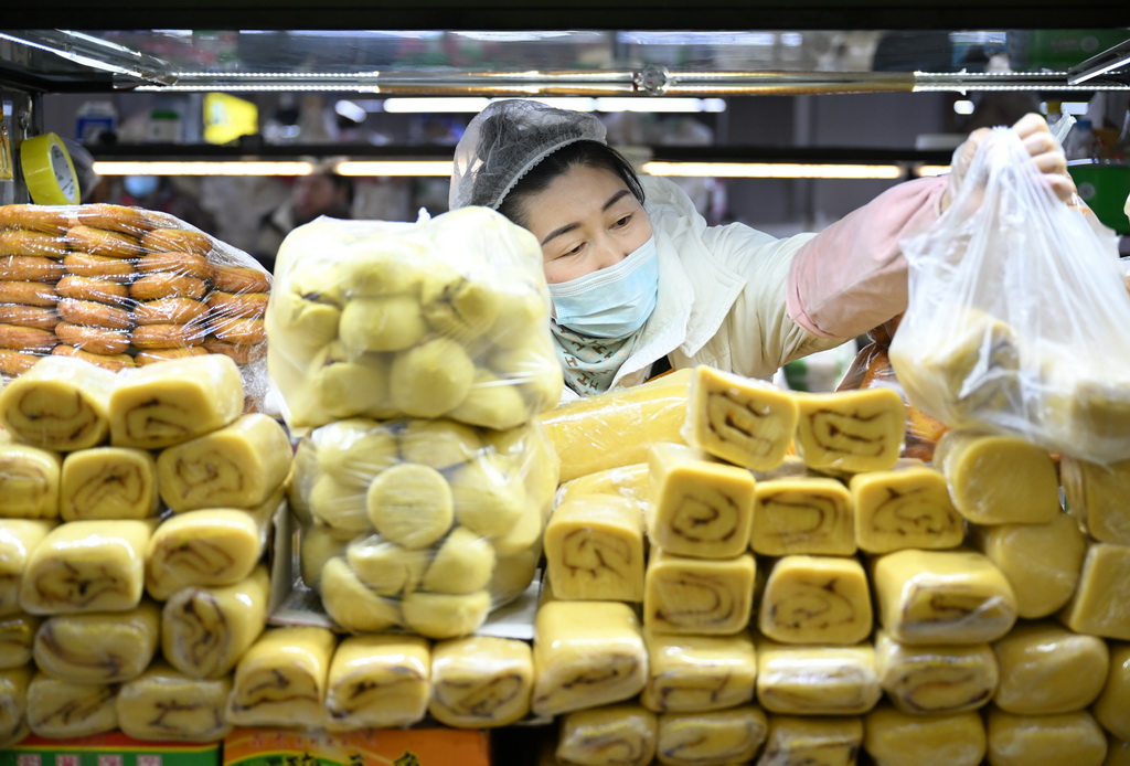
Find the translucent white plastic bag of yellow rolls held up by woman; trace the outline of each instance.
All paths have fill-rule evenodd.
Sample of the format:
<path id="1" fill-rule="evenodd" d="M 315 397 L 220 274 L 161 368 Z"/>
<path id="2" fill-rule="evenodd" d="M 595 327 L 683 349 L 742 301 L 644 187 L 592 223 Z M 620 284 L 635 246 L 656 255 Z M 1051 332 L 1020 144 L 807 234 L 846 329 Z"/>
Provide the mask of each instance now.
<path id="1" fill-rule="evenodd" d="M 1130 458 L 1130 295 L 1113 233 L 1060 202 L 994 129 L 953 203 L 903 243 L 910 303 L 889 355 L 954 428 L 1098 463 Z"/>

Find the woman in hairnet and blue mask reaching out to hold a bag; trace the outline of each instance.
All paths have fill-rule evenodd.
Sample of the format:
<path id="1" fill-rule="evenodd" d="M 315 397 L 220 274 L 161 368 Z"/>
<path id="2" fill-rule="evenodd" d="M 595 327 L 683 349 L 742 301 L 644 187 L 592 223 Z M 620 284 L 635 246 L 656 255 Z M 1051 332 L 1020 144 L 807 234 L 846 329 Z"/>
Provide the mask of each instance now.
<path id="1" fill-rule="evenodd" d="M 1070 199 L 1044 120 L 1029 114 L 1014 130 Z M 550 328 L 577 394 L 635 385 L 668 366 L 768 378 L 906 307 L 898 242 L 948 206 L 947 183 L 983 136 L 955 153 L 949 182 L 898 184 L 819 234 L 777 240 L 742 224 L 706 226 L 676 184 L 637 177 L 597 117 L 503 101 L 476 115 L 455 148 L 451 207 L 494 208 L 538 238 Z"/>

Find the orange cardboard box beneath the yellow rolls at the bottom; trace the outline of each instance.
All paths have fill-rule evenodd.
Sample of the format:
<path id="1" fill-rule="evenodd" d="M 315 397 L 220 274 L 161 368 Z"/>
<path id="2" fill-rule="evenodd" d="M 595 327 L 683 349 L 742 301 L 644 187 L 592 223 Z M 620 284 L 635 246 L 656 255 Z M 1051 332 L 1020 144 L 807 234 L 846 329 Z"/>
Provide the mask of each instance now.
<path id="1" fill-rule="evenodd" d="M 460 729 L 236 729 L 224 740 L 224 766 L 490 766 L 490 740 Z"/>

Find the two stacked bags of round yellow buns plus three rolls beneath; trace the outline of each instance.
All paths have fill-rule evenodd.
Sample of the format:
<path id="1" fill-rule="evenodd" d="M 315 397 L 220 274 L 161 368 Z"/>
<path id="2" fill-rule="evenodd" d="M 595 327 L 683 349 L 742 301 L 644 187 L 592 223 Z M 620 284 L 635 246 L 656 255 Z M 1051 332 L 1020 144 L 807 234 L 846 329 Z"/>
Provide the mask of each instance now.
<path id="1" fill-rule="evenodd" d="M 322 218 L 287 236 L 275 277 L 268 366 L 301 438 L 294 587 L 324 613 L 252 646 L 228 720 L 525 717 L 530 646 L 483 628 L 533 581 L 558 482 L 537 420 L 563 386 L 540 246 L 486 208 Z"/>

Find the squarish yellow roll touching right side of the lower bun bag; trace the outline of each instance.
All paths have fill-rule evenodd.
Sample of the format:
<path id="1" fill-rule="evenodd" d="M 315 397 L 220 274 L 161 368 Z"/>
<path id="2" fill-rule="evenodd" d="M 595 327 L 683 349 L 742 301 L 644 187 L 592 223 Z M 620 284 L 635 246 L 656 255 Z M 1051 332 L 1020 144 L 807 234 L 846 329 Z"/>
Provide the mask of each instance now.
<path id="1" fill-rule="evenodd" d="M 643 517 L 616 495 L 558 505 L 545 533 L 554 595 L 576 601 L 643 601 Z"/>

